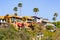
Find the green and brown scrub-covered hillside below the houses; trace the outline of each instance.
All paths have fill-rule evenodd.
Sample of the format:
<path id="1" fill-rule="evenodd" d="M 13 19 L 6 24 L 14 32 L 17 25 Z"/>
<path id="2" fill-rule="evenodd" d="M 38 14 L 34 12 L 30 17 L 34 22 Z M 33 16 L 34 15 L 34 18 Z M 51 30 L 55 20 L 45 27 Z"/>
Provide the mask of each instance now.
<path id="1" fill-rule="evenodd" d="M 0 28 L 0 40 L 35 40 L 41 33 L 43 34 L 41 40 L 60 39 L 59 27 L 56 28 L 55 32 L 50 32 L 48 29 L 44 29 L 42 24 L 34 24 L 34 26 L 34 30 L 32 30 L 32 27 L 16 30 L 13 25 L 10 25 L 9 28 Z"/>

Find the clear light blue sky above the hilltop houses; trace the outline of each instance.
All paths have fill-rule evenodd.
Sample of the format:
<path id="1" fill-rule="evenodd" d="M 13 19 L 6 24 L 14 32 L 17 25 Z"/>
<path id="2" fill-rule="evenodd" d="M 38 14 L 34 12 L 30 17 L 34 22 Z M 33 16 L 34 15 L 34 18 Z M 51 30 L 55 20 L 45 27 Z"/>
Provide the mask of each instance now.
<path id="1" fill-rule="evenodd" d="M 22 3 L 21 13 L 18 3 Z M 34 16 L 33 9 L 38 8 L 37 16 L 49 21 L 52 21 L 54 13 L 57 12 L 57 21 L 60 21 L 60 0 L 0 0 L 0 16 L 14 14 L 14 7 L 18 7 L 19 16 Z"/>

